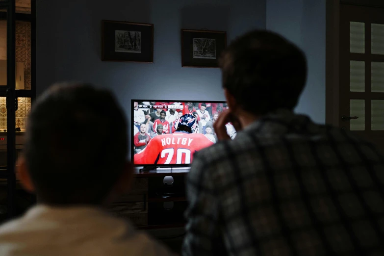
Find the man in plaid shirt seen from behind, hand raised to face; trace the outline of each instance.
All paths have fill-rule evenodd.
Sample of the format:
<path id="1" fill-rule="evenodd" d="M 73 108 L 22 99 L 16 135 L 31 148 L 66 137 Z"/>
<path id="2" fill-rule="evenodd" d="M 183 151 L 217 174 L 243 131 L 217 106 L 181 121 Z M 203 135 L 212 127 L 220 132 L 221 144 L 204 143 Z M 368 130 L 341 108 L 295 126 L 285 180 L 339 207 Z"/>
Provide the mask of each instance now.
<path id="1" fill-rule="evenodd" d="M 293 113 L 304 53 L 252 31 L 220 65 L 230 110 L 214 124 L 219 143 L 195 154 L 187 177 L 183 255 L 383 256 L 384 158 Z"/>

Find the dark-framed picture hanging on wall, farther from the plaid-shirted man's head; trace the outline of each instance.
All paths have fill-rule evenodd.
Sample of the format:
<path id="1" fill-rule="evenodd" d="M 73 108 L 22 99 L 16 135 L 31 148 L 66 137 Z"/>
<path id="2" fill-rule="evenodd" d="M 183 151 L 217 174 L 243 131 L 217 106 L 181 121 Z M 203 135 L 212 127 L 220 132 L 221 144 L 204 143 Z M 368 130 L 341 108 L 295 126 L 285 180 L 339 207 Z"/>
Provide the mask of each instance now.
<path id="1" fill-rule="evenodd" d="M 154 62 L 154 25 L 102 21 L 102 60 Z"/>

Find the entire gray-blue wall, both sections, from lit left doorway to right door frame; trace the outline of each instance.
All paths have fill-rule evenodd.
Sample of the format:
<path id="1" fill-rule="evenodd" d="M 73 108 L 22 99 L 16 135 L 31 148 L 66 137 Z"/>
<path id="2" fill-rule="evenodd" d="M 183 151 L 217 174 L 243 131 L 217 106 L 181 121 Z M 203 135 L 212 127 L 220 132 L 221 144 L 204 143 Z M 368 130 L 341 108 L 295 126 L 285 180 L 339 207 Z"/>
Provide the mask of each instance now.
<path id="1" fill-rule="evenodd" d="M 103 4 L 103 5 L 102 5 Z M 154 63 L 101 61 L 101 20 L 154 24 Z M 307 54 L 307 87 L 297 112 L 325 122 L 325 0 L 38 0 L 37 94 L 83 80 L 131 98 L 224 100 L 220 70 L 181 68 L 180 29 L 253 28 L 281 33 Z"/>

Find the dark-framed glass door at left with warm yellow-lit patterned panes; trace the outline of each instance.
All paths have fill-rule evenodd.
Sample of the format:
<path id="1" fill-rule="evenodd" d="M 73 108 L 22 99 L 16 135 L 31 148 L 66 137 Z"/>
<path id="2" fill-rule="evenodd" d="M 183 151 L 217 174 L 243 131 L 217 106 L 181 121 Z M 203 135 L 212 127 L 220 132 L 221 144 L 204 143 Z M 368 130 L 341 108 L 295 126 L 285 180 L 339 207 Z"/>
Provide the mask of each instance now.
<path id="1" fill-rule="evenodd" d="M 18 189 L 15 163 L 36 95 L 35 2 L 0 0 L 0 221 L 33 202 Z"/>

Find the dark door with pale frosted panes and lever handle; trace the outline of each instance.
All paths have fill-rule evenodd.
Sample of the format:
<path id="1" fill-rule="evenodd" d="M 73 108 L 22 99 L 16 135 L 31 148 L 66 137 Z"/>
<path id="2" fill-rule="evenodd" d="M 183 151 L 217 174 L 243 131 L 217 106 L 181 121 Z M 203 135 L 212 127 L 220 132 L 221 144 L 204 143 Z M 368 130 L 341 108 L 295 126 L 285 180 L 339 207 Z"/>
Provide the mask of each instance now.
<path id="1" fill-rule="evenodd" d="M 340 128 L 384 153 L 384 8 L 340 5 Z"/>

